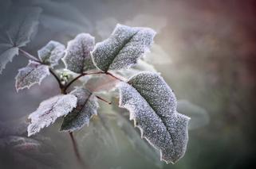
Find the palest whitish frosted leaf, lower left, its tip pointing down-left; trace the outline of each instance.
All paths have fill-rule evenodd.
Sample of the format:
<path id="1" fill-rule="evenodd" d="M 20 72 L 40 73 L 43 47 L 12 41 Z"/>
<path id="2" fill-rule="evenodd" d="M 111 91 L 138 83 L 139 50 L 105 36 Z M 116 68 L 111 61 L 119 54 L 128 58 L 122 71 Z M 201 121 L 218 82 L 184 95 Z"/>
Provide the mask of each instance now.
<path id="1" fill-rule="evenodd" d="M 28 126 L 28 136 L 40 132 L 48 127 L 57 117 L 67 115 L 77 106 L 77 97 L 72 94 L 57 95 L 40 103 L 39 107 L 29 118 L 31 124 Z"/>

